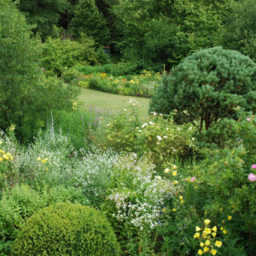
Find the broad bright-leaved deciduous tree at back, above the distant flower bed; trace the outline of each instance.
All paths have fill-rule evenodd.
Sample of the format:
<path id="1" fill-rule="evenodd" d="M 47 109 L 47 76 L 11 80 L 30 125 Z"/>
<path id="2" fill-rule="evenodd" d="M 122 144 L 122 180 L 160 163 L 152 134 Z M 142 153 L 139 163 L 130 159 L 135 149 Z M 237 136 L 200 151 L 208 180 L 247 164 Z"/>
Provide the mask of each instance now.
<path id="1" fill-rule="evenodd" d="M 225 15 L 236 0 L 120 0 L 118 47 L 129 60 L 170 68 L 197 49 L 217 45 Z"/>

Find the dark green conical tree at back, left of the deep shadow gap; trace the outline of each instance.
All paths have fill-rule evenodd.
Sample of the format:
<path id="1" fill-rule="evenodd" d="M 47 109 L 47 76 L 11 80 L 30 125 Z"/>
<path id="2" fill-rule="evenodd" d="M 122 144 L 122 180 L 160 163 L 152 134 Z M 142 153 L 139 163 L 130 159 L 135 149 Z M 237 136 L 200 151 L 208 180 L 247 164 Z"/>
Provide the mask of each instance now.
<path id="1" fill-rule="evenodd" d="M 96 7 L 95 0 L 79 0 L 74 8 L 70 28 L 75 38 L 82 34 L 93 37 L 97 44 L 110 43 L 107 22 Z"/>

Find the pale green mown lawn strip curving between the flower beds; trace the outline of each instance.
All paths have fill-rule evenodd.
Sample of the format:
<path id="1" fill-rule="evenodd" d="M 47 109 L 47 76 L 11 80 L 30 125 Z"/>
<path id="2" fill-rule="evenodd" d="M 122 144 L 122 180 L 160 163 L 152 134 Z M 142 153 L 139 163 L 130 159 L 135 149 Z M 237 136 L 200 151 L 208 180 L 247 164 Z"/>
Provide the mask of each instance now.
<path id="1" fill-rule="evenodd" d="M 139 108 L 141 118 L 148 119 L 148 98 L 135 97 L 135 96 L 120 96 L 111 93 L 106 93 L 98 90 L 81 89 L 79 94 L 79 102 L 85 103 L 86 107 L 96 109 L 103 112 L 111 110 L 120 111 L 128 109 L 130 104 L 129 99 L 136 99 L 142 106 Z"/>

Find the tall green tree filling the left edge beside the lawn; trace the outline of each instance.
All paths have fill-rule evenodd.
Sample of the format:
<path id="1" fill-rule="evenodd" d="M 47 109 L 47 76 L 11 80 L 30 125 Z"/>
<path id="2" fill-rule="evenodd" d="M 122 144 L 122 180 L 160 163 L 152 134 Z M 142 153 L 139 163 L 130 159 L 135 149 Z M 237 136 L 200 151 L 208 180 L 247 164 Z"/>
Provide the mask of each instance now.
<path id="1" fill-rule="evenodd" d="M 40 42 L 25 16 L 10 0 L 0 6 L 0 129 L 13 124 L 20 137 L 32 139 L 52 109 L 71 108 L 74 90 L 44 77 Z"/>

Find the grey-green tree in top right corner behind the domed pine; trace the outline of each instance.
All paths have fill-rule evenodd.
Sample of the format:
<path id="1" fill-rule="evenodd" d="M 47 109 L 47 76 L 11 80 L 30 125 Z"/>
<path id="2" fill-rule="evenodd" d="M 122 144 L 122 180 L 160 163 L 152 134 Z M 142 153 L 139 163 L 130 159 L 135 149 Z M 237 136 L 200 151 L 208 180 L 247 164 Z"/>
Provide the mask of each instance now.
<path id="1" fill-rule="evenodd" d="M 221 44 L 256 61 L 256 0 L 240 1 L 227 17 Z"/>

